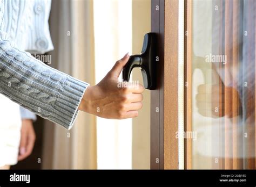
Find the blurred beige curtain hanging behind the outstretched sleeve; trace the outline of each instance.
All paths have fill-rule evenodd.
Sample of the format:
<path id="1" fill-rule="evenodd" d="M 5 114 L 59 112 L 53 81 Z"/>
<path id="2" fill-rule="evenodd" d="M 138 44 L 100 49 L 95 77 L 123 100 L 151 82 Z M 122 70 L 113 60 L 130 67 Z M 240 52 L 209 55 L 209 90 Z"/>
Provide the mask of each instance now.
<path id="1" fill-rule="evenodd" d="M 52 1 L 51 67 L 95 83 L 92 0 Z M 72 130 L 45 121 L 43 169 L 96 169 L 96 118 L 80 112 Z"/>

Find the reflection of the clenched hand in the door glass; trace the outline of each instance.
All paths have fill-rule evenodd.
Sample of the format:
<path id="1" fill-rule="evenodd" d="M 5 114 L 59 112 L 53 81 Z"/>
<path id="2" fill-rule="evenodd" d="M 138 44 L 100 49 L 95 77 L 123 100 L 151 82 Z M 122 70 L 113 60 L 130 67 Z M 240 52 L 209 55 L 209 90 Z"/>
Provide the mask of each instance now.
<path id="1" fill-rule="evenodd" d="M 225 93 L 225 95 L 224 95 Z M 232 87 L 224 87 L 218 84 L 201 84 L 198 86 L 196 96 L 198 112 L 205 117 L 235 117 L 239 114 L 239 93 Z"/>

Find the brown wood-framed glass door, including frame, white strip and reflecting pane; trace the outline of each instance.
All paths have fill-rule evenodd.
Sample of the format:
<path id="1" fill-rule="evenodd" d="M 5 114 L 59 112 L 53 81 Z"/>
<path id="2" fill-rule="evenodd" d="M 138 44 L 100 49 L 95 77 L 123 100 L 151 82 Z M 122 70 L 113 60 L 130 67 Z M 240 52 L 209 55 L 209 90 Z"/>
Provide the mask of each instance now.
<path id="1" fill-rule="evenodd" d="M 255 169 L 256 2 L 151 3 L 151 169 Z"/>

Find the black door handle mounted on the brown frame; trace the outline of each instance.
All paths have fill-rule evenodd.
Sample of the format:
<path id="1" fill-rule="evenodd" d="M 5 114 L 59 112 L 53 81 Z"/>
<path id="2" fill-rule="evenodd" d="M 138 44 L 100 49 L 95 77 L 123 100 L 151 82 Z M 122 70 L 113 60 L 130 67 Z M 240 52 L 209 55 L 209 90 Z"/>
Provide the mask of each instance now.
<path id="1" fill-rule="evenodd" d="M 156 58 L 157 58 L 157 36 L 156 33 L 147 33 L 144 36 L 142 53 L 131 55 L 129 61 L 123 68 L 123 80 L 129 81 L 133 68 L 142 70 L 143 84 L 146 89 L 156 89 Z"/>

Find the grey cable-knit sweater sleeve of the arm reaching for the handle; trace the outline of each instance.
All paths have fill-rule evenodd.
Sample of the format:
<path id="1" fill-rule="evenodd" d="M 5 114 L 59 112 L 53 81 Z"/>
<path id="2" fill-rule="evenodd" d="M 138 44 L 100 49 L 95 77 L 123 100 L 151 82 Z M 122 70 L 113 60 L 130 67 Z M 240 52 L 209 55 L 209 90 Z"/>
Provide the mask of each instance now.
<path id="1" fill-rule="evenodd" d="M 0 92 L 38 116 L 70 130 L 88 85 L 0 38 Z"/>

